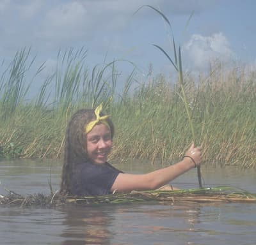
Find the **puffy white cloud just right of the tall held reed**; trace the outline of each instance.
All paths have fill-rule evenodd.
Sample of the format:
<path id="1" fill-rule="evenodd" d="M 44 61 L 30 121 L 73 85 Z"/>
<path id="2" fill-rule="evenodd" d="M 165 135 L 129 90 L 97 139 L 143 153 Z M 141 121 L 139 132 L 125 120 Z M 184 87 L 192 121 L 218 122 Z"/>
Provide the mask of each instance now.
<path id="1" fill-rule="evenodd" d="M 230 47 L 230 43 L 222 33 L 215 33 L 212 36 L 193 34 L 190 40 L 185 43 L 184 55 L 188 56 L 189 66 L 199 70 L 205 70 L 211 61 L 228 62 L 236 57 Z"/>

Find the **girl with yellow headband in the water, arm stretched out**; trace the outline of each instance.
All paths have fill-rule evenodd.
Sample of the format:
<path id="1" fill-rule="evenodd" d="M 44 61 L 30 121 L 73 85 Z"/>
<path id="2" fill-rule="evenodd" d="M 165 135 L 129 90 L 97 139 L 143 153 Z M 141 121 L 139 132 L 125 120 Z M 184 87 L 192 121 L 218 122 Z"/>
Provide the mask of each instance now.
<path id="1" fill-rule="evenodd" d="M 202 161 L 201 147 L 192 144 L 179 163 L 148 174 L 125 174 L 107 160 L 114 126 L 109 115 L 82 109 L 73 115 L 65 135 L 61 189 L 64 195 L 108 195 L 161 188 Z"/>

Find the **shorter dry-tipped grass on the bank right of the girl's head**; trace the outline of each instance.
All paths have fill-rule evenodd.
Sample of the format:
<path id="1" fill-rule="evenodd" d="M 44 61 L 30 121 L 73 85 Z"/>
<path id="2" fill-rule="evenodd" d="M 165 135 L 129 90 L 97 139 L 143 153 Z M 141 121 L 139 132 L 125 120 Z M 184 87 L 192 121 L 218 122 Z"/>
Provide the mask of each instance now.
<path id="1" fill-rule="evenodd" d="M 255 73 L 218 68 L 202 75 L 198 83 L 188 77 L 189 109 L 195 135 L 204 144 L 207 166 L 255 165 Z M 220 75 L 225 77 L 220 80 Z M 179 81 L 177 81 L 179 82 Z M 175 81 L 172 81 L 175 84 Z M 211 89 L 209 89 L 211 87 Z M 250 88 L 250 89 L 249 89 Z M 113 114 L 116 124 L 113 158 L 127 157 L 161 161 L 182 157 L 191 130 L 180 87 L 164 77 L 148 78 L 130 101 Z"/>

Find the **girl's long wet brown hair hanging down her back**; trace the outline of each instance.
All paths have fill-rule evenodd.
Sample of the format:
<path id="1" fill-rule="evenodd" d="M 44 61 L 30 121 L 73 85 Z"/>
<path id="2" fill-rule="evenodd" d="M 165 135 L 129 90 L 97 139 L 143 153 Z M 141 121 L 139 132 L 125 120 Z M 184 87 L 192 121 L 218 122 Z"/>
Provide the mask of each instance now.
<path id="1" fill-rule="evenodd" d="M 100 116 L 104 114 L 100 113 Z M 64 160 L 61 174 L 60 193 L 63 195 L 71 194 L 71 178 L 77 164 L 81 164 L 88 160 L 86 133 L 84 127 L 95 120 L 95 112 L 92 109 L 78 110 L 70 119 L 66 134 L 64 147 Z M 107 118 L 111 138 L 114 136 L 114 125 Z"/>

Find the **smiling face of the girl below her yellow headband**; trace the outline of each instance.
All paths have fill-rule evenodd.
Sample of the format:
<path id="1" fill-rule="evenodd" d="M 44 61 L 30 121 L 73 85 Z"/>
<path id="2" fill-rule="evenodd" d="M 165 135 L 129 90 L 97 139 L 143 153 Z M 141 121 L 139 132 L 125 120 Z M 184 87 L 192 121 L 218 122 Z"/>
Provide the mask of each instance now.
<path id="1" fill-rule="evenodd" d="M 112 147 L 111 131 L 103 123 L 96 124 L 86 135 L 88 158 L 97 164 L 106 163 Z"/>

